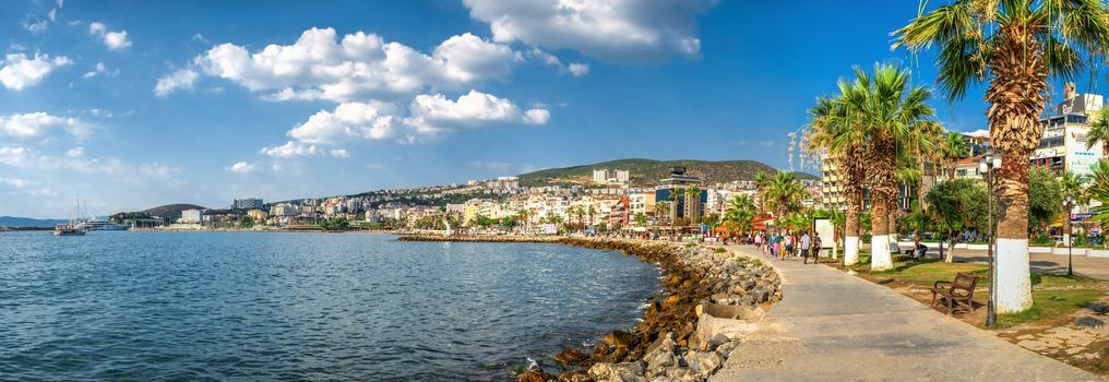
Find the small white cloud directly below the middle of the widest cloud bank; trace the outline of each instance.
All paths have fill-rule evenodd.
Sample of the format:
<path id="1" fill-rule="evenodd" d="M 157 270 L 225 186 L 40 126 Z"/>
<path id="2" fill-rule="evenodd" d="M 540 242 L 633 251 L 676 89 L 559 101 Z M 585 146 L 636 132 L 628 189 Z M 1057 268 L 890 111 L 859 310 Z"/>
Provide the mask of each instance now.
<path id="1" fill-rule="evenodd" d="M 316 112 L 306 122 L 289 130 L 288 135 L 306 143 L 335 143 L 350 137 L 386 139 L 393 137 L 400 121 L 400 108 L 396 104 L 346 102 L 334 111 Z M 289 144 L 293 142 L 285 145 Z"/>

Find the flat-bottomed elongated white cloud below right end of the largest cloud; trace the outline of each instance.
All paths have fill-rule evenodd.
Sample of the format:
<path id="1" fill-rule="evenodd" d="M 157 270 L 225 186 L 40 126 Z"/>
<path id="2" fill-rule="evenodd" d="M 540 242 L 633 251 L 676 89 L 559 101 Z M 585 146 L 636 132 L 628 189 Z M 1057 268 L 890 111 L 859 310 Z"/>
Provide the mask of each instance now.
<path id="1" fill-rule="evenodd" d="M 406 119 L 406 123 L 425 134 L 496 123 L 546 124 L 550 119 L 550 112 L 546 109 L 521 112 L 512 101 L 477 90 L 470 90 L 457 101 L 442 94 L 417 96 L 409 113 L 411 117 Z"/>

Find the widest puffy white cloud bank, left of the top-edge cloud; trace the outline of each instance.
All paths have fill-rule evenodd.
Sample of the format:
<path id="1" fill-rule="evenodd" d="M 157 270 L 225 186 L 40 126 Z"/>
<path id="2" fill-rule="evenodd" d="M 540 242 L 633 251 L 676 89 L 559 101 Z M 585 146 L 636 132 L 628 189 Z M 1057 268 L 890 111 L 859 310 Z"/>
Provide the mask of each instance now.
<path id="1" fill-rule="evenodd" d="M 194 59 L 208 76 L 252 91 L 278 90 L 269 100 L 350 101 L 399 97 L 433 88 L 460 89 L 506 78 L 520 54 L 474 34 L 455 36 L 426 54 L 372 33 L 338 39 L 332 28 L 312 28 L 289 46 L 271 44 L 251 52 L 232 43 L 215 46 Z"/>

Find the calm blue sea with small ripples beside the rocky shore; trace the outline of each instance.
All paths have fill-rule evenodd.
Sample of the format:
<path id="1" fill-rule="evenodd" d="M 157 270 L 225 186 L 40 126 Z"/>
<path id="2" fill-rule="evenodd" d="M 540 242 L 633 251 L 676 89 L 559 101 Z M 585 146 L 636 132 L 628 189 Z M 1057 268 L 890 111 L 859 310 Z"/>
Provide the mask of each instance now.
<path id="1" fill-rule="evenodd" d="M 503 380 L 659 289 L 612 251 L 395 239 L 0 233 L 0 380 Z"/>

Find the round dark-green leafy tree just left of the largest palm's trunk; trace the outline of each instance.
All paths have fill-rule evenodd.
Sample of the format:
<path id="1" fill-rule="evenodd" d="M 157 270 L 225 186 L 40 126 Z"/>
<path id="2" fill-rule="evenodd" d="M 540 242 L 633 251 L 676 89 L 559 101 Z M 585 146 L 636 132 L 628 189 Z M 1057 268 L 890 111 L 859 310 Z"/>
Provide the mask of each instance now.
<path id="1" fill-rule="evenodd" d="M 952 179 L 932 188 L 927 198 L 935 229 L 952 249 L 944 261 L 952 262 L 963 232 L 987 228 L 986 188 L 974 180 Z"/>

